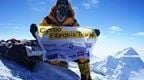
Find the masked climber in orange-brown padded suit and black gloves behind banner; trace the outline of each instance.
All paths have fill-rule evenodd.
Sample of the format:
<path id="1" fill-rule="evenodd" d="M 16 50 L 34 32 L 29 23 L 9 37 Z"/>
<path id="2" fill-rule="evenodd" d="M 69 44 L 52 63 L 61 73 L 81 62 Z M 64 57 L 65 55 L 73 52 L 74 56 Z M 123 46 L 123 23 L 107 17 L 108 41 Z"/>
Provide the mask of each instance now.
<path id="1" fill-rule="evenodd" d="M 68 0 L 57 0 L 56 5 L 51 9 L 51 12 L 48 16 L 46 16 L 40 26 L 71 26 L 76 27 L 79 26 L 77 20 L 75 19 L 75 13 L 71 7 L 71 4 Z M 30 27 L 30 32 L 32 35 L 36 37 L 35 32 L 37 31 L 36 24 L 32 24 Z M 99 30 L 96 31 L 99 35 Z M 75 60 L 74 62 L 78 63 L 79 70 L 81 73 L 81 80 L 91 80 L 90 76 L 90 65 L 89 59 L 80 58 Z M 50 61 L 52 65 L 57 65 L 61 67 L 68 67 L 67 62 L 65 61 Z"/>

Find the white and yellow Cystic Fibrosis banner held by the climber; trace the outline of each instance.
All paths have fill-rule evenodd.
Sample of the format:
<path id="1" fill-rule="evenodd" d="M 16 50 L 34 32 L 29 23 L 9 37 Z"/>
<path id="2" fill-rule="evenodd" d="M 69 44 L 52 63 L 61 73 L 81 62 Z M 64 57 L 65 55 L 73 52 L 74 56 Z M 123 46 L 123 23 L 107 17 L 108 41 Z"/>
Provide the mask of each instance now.
<path id="1" fill-rule="evenodd" d="M 84 27 L 39 26 L 36 35 L 47 60 L 62 61 L 89 58 L 97 38 L 94 29 Z"/>

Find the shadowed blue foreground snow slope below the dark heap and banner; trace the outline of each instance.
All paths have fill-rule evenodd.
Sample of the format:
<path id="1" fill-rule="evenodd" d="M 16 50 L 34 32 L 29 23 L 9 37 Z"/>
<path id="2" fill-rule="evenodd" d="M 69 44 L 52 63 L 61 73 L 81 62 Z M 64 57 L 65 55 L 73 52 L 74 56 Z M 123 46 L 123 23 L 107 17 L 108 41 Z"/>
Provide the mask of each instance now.
<path id="1" fill-rule="evenodd" d="M 0 80 L 79 80 L 79 76 L 68 69 L 43 62 L 37 64 L 32 72 L 13 61 L 0 58 Z"/>

